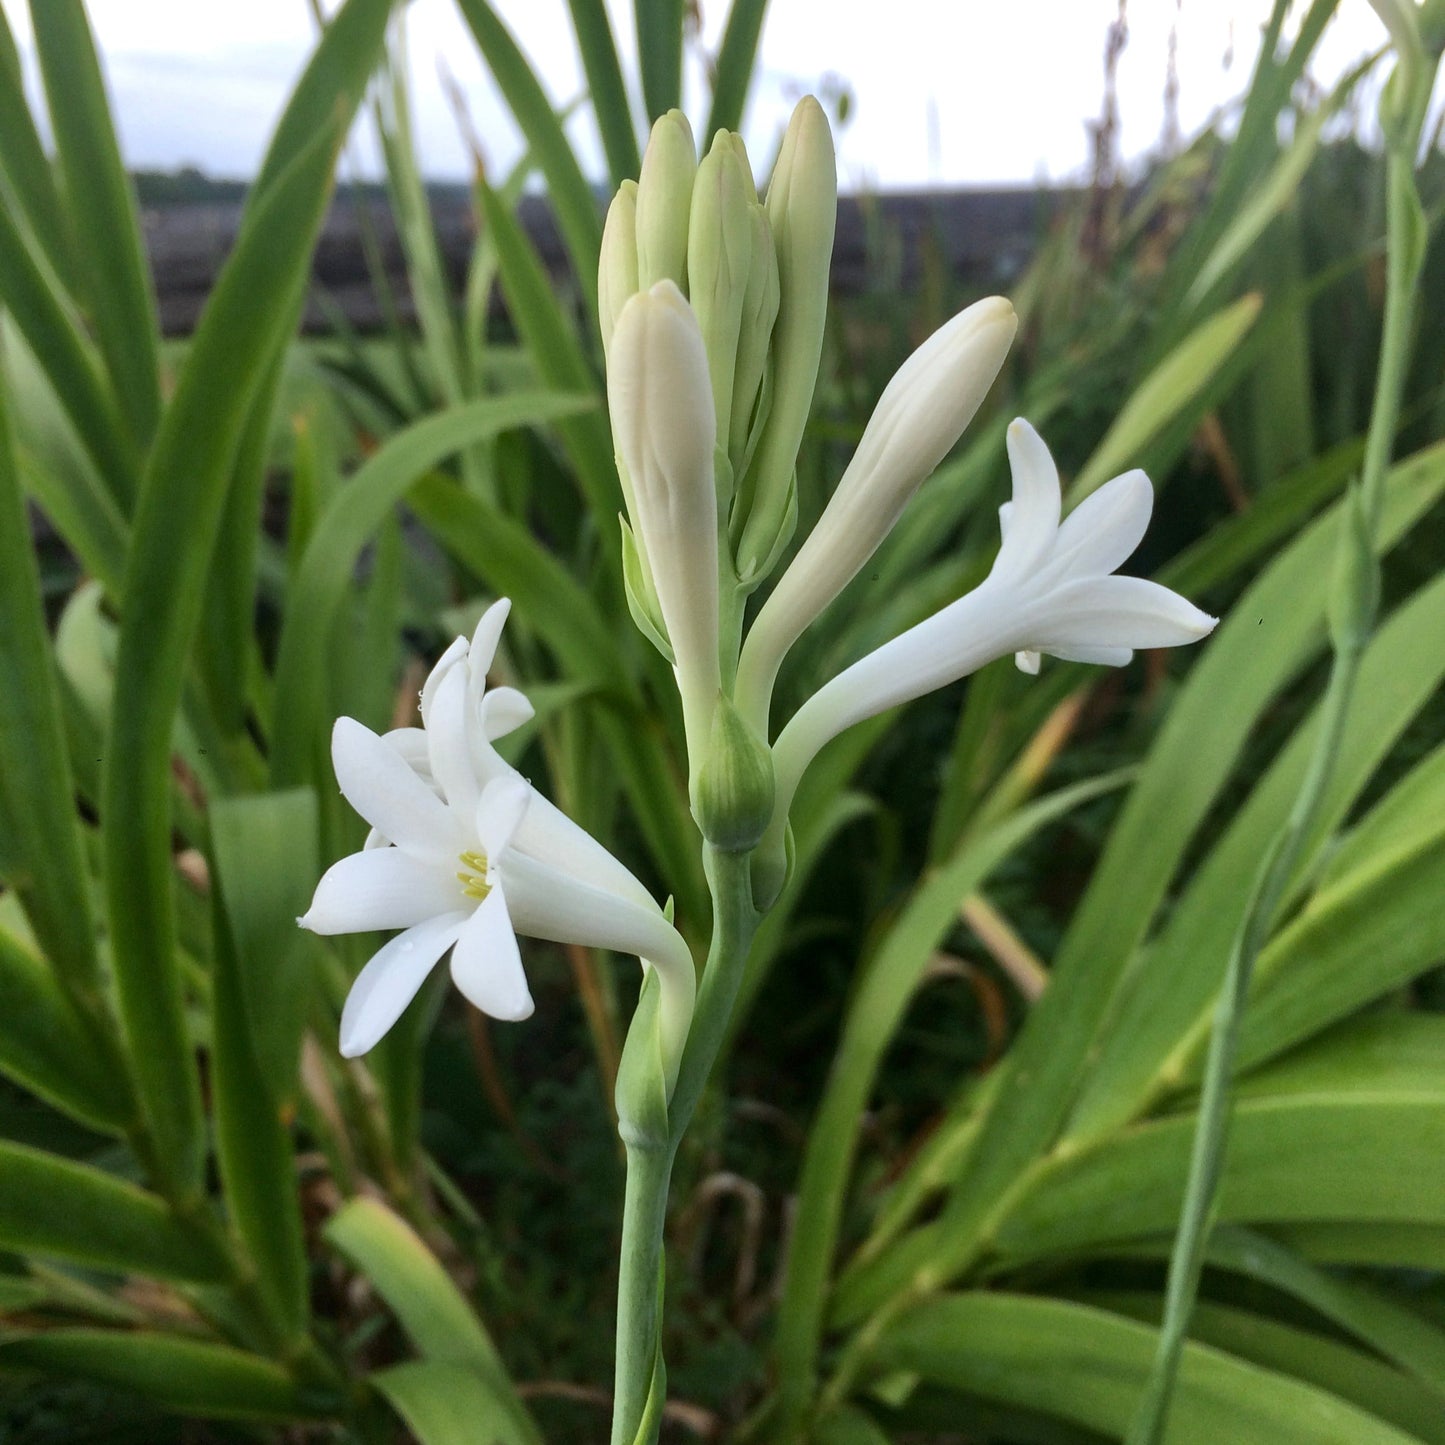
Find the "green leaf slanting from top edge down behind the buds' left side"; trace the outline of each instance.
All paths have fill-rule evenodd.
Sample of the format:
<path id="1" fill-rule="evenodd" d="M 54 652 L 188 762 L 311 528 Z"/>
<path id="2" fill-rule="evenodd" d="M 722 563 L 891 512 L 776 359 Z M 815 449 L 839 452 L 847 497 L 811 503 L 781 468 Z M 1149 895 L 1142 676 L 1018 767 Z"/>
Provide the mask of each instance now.
<path id="1" fill-rule="evenodd" d="M 587 303 L 597 315 L 597 259 L 603 249 L 603 221 L 597 198 L 577 162 L 566 131 L 512 33 L 487 0 L 460 0 L 483 59 L 491 71 L 512 116 L 546 178 L 556 221 L 572 257 L 572 272 Z M 490 188 L 483 184 L 481 191 Z M 491 225 L 488 207 L 487 224 Z M 604 455 L 611 455 L 604 452 Z"/>

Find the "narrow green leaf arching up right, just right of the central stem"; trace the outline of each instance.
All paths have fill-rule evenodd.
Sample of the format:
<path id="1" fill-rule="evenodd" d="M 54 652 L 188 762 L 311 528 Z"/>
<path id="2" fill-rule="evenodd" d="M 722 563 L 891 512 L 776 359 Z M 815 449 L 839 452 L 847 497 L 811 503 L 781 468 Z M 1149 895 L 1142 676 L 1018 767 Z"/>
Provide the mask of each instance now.
<path id="1" fill-rule="evenodd" d="M 988 874 L 1040 828 L 1079 803 L 1117 788 L 1118 777 L 1059 789 L 1006 818 L 980 837 L 965 837 L 952 855 L 915 890 L 864 965 L 828 1085 L 814 1117 L 798 1186 L 798 1233 L 788 1256 L 779 1308 L 776 1361 L 785 1409 L 808 1399 L 827 1305 L 828 1273 L 842 1221 L 847 1183 L 879 1065 L 928 962 L 958 916 L 958 906 Z"/>

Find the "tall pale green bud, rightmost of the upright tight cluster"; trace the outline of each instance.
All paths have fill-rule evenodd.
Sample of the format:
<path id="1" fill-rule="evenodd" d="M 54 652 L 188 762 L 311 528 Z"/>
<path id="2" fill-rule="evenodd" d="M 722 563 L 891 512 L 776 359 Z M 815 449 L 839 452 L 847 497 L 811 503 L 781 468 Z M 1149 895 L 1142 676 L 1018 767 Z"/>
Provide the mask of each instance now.
<path id="1" fill-rule="evenodd" d="M 779 305 L 773 328 L 772 410 L 746 488 L 747 514 L 737 548 L 738 572 L 757 572 L 773 551 L 788 506 L 822 355 L 828 269 L 838 215 L 832 133 L 811 95 L 799 101 L 767 186 L 767 220 L 777 254 Z"/>

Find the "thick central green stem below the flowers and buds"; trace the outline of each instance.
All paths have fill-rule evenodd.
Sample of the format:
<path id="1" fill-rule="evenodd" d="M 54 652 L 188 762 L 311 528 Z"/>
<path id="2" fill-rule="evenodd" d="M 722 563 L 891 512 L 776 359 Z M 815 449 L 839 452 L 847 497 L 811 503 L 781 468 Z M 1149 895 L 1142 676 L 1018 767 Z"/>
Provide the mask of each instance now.
<path id="1" fill-rule="evenodd" d="M 652 1402 L 653 1407 L 649 1409 L 649 1394 L 655 1371 L 662 1379 L 656 1368 L 660 1360 L 662 1235 L 672 1165 L 727 1038 L 747 952 L 759 923 L 759 913 L 753 907 L 749 854 L 705 847 L 702 861 L 712 893 L 712 946 L 708 949 L 678 1082 L 668 1103 L 668 1137 L 627 1146 L 627 1192 L 617 1286 L 613 1445 L 633 1445 L 644 1420 L 647 1433 L 640 1445 L 649 1445 L 656 1438 L 662 1402 Z"/>

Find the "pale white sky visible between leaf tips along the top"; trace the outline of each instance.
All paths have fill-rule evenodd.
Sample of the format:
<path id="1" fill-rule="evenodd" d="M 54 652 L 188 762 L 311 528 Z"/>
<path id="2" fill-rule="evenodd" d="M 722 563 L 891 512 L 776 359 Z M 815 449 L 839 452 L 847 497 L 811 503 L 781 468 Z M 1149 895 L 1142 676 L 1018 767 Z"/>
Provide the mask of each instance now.
<path id="1" fill-rule="evenodd" d="M 26 7 L 3 4 L 29 58 Z M 565 0 L 496 4 L 553 101 L 574 100 L 582 74 Z M 699 4 L 701 42 L 714 48 L 725 3 Z M 308 0 L 88 0 L 88 9 L 129 163 L 250 175 L 314 39 Z M 624 69 L 634 75 L 631 6 L 608 0 L 608 9 Z M 1267 0 L 1133 0 L 1118 66 L 1127 158 L 1157 144 L 1170 27 L 1178 22 L 1179 118 L 1188 136 L 1244 90 L 1269 9 Z M 798 95 L 841 77 L 854 97 L 838 133 L 845 189 L 1079 178 L 1116 13 L 1117 0 L 772 0 L 744 120 L 754 163 L 766 166 Z M 436 79 L 441 58 L 467 94 L 488 165 L 504 171 L 520 143 L 454 0 L 413 0 L 407 27 L 426 173 L 470 172 Z M 1366 0 L 1342 0 L 1312 72 L 1332 81 L 1383 39 Z M 695 124 L 707 110 L 701 77 L 694 59 L 686 108 Z M 601 149 L 585 108 L 571 134 L 600 178 Z"/>

